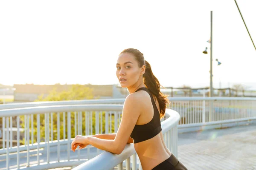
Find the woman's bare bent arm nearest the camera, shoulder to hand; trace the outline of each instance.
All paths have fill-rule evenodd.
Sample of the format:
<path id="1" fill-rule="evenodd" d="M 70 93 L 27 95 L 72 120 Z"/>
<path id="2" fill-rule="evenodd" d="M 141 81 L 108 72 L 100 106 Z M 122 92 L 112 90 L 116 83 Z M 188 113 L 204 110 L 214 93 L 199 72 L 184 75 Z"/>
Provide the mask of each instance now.
<path id="1" fill-rule="evenodd" d="M 136 93 L 126 97 L 122 111 L 122 119 L 114 139 L 113 135 L 99 136 L 99 138 L 95 136 L 76 136 L 71 144 L 72 150 L 75 151 L 76 147 L 80 145 L 87 146 L 91 144 L 96 148 L 111 153 L 122 153 L 125 145 L 131 140 L 131 132 L 140 116 L 141 101 L 141 96 Z M 105 137 L 108 139 L 105 139 Z"/>

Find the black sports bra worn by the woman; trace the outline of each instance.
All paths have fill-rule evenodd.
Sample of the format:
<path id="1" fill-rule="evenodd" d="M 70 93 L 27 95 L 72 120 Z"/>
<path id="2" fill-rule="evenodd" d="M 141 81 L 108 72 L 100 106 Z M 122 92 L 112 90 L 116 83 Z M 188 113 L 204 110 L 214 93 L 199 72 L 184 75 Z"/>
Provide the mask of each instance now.
<path id="1" fill-rule="evenodd" d="M 151 102 L 154 108 L 154 116 L 150 122 L 144 125 L 135 125 L 134 130 L 131 133 L 131 138 L 134 140 L 134 143 L 143 142 L 145 140 L 151 139 L 156 136 L 158 133 L 161 132 L 161 121 L 160 121 L 160 114 L 157 109 L 157 105 L 154 102 L 153 96 L 148 88 L 139 88 L 137 91 L 146 91 L 148 92 Z M 137 92 L 135 91 L 135 92 Z"/>

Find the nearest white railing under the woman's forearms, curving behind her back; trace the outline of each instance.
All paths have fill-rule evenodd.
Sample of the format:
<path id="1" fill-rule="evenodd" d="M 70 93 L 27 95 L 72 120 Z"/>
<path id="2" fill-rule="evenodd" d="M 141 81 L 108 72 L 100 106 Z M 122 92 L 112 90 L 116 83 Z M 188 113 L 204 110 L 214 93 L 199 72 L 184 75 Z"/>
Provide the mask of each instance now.
<path id="1" fill-rule="evenodd" d="M 164 140 L 172 154 L 177 157 L 177 125 L 180 115 L 170 109 L 166 109 L 166 115 L 168 118 L 161 123 Z M 118 170 L 122 170 L 123 167 L 126 167 L 127 170 L 130 170 L 131 167 L 133 170 L 137 170 L 137 154 L 134 150 L 134 144 L 127 144 L 120 155 L 104 152 L 73 168 L 73 170 L 111 170 L 114 167 L 117 167 Z M 141 166 L 139 169 L 142 169 Z"/>

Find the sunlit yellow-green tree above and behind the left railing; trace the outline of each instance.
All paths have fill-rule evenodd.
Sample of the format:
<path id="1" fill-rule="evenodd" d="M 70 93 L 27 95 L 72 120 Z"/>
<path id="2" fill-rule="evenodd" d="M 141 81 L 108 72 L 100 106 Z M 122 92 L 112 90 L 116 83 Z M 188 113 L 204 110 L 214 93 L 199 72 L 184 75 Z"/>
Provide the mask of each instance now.
<path id="1" fill-rule="evenodd" d="M 93 99 L 93 89 L 85 87 L 84 85 L 72 85 L 72 87 L 68 91 L 61 91 L 57 92 L 56 88 L 54 88 L 52 91 L 49 92 L 49 95 L 45 98 L 43 97 L 44 94 L 41 94 L 35 102 L 39 101 L 63 101 L 63 100 L 80 100 L 80 99 Z M 85 129 L 85 112 L 82 113 L 82 129 Z M 64 133 L 63 133 L 63 114 L 60 113 L 60 139 L 63 139 Z M 78 115 L 75 112 L 71 112 L 71 137 L 75 136 L 75 114 Z M 92 112 L 93 117 L 93 133 L 95 133 L 95 112 Z M 30 115 L 29 115 L 30 116 Z M 49 113 L 49 136 L 50 140 L 57 140 L 57 113 L 52 113 L 53 116 L 53 122 L 52 122 L 52 129 L 53 129 L 53 139 L 51 139 L 51 113 Z M 105 117 L 105 113 L 102 115 Z M 22 120 L 21 127 L 25 127 L 25 116 L 21 116 L 20 119 Z M 78 117 L 77 117 L 78 119 Z M 103 122 L 103 121 L 102 121 Z M 41 142 L 45 139 L 45 114 L 40 114 L 40 133 L 41 133 Z M 102 125 L 103 126 L 103 125 Z M 105 122 L 104 122 L 105 126 Z M 104 127 L 103 126 L 103 127 Z M 31 116 L 29 117 L 29 129 L 31 130 Z M 34 114 L 33 116 L 33 134 L 34 134 L 34 142 L 36 142 L 36 133 L 37 133 L 37 116 Z M 82 132 L 82 135 L 85 135 L 85 131 Z M 30 136 L 31 137 L 31 136 Z M 67 139 L 67 113 L 65 113 L 65 138 Z M 25 139 L 23 139 L 23 144 L 25 142 Z"/>

